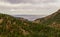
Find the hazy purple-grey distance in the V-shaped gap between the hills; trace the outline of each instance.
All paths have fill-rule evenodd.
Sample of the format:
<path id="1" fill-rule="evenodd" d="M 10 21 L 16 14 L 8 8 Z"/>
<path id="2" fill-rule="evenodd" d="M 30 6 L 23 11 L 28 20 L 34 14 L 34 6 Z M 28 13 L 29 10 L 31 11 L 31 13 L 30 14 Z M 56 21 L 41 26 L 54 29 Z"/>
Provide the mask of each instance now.
<path id="1" fill-rule="evenodd" d="M 25 18 L 29 21 L 34 21 L 37 18 L 42 18 L 45 17 L 47 15 L 13 15 L 14 17 L 21 17 L 21 18 Z"/>

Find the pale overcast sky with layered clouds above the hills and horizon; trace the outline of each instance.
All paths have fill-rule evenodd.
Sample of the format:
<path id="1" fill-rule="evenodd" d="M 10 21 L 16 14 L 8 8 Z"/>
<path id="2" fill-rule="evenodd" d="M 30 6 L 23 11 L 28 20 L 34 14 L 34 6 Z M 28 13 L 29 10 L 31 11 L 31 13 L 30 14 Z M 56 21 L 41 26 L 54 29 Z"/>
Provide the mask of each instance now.
<path id="1" fill-rule="evenodd" d="M 0 0 L 0 13 L 49 15 L 60 9 L 60 0 Z"/>

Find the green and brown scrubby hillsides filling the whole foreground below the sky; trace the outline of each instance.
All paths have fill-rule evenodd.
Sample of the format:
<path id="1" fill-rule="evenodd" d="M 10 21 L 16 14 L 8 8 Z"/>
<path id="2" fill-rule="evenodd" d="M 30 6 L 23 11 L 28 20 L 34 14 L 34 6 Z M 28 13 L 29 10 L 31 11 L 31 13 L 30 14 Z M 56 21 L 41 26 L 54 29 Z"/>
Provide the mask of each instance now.
<path id="1" fill-rule="evenodd" d="M 0 37 L 60 37 L 60 10 L 35 20 L 0 14 Z"/>

